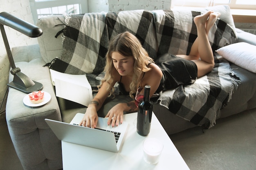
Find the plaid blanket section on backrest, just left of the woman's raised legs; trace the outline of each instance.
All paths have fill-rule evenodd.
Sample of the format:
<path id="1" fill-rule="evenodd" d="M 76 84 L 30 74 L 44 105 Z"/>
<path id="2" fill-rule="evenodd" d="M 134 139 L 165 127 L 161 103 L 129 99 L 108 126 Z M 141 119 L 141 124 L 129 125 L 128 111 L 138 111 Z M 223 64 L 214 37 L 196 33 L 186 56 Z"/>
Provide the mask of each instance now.
<path id="1" fill-rule="evenodd" d="M 197 37 L 193 18 L 200 15 L 200 12 L 156 10 L 152 13 L 159 46 L 157 55 L 165 53 L 188 55 Z"/>

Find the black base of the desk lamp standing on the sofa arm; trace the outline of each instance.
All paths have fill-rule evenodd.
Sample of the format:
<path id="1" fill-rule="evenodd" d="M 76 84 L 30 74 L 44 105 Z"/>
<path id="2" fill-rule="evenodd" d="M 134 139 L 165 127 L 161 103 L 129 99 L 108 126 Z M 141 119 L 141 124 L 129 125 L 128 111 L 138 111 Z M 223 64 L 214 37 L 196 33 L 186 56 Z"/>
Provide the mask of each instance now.
<path id="1" fill-rule="evenodd" d="M 7 86 L 14 88 L 23 93 L 31 93 L 43 89 L 43 84 L 31 80 L 27 75 L 18 72 L 13 75 L 13 81 L 8 83 Z"/>

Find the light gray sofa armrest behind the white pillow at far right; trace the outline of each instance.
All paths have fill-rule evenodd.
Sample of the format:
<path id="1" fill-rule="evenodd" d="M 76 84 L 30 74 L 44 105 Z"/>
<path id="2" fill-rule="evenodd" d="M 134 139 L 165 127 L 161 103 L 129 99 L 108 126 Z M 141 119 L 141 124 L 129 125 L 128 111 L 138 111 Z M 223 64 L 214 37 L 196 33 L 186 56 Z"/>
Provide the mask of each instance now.
<path id="1" fill-rule="evenodd" d="M 238 28 L 236 28 L 236 35 L 238 37 L 238 42 L 247 42 L 249 44 L 256 46 L 256 35 L 247 33 Z"/>

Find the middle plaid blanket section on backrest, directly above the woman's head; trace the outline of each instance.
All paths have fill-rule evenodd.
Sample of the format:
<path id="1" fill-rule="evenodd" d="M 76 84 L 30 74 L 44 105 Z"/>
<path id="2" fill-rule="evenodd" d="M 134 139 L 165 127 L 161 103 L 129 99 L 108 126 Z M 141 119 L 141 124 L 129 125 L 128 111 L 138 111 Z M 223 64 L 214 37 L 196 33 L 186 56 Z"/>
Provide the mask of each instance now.
<path id="1" fill-rule="evenodd" d="M 129 31 L 140 40 L 150 57 L 153 59 L 157 57 L 158 44 L 153 14 L 150 11 L 135 10 L 107 13 L 106 24 L 110 39 L 119 33 Z"/>

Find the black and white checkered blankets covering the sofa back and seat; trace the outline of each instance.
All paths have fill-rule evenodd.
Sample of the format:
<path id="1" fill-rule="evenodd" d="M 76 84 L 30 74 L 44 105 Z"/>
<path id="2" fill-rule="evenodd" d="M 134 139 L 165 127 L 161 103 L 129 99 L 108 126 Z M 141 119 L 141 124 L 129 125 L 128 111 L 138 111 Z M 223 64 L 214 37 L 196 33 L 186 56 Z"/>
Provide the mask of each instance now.
<path id="1" fill-rule="evenodd" d="M 101 73 L 105 65 L 104 57 L 108 40 L 112 37 L 130 31 L 154 59 L 164 53 L 189 54 L 197 37 L 193 23 L 196 15 L 200 12 L 137 10 L 71 15 L 65 22 L 63 53 L 50 67 L 63 73 L 86 73 L 94 88 L 104 76 Z M 234 43 L 236 35 L 228 24 L 217 20 L 209 33 L 209 41 L 215 51 Z M 215 56 L 215 63 L 211 73 L 197 79 L 191 86 L 162 92 L 157 102 L 193 124 L 209 123 L 209 127 L 213 126 L 218 111 L 238 86 L 236 76 L 231 76 L 227 60 Z"/>

